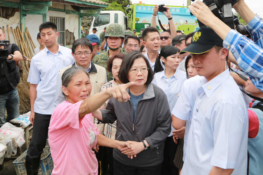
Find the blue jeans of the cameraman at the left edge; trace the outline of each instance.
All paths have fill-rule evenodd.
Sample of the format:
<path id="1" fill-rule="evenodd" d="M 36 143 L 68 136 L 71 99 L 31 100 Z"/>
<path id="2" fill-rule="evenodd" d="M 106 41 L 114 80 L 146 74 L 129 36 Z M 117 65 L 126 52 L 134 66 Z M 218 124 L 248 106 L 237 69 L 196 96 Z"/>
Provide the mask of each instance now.
<path id="1" fill-rule="evenodd" d="M 4 109 L 7 111 L 5 119 Z M 0 94 L 0 127 L 6 121 L 12 120 L 19 116 L 19 96 L 17 88 L 5 94 Z"/>

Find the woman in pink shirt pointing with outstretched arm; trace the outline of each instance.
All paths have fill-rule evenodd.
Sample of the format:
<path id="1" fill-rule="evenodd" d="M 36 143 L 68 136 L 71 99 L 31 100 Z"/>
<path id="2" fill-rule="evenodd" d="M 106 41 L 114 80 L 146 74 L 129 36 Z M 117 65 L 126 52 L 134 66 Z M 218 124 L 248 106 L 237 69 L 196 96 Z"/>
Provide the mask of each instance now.
<path id="1" fill-rule="evenodd" d="M 98 174 L 98 162 L 92 148 L 97 145 L 122 149 L 129 143 L 99 134 L 91 112 L 110 97 L 127 101 L 126 92 L 133 82 L 90 96 L 91 84 L 86 70 L 73 66 L 62 75 L 62 90 L 67 101 L 58 105 L 50 119 L 49 145 L 54 162 L 52 174 Z"/>

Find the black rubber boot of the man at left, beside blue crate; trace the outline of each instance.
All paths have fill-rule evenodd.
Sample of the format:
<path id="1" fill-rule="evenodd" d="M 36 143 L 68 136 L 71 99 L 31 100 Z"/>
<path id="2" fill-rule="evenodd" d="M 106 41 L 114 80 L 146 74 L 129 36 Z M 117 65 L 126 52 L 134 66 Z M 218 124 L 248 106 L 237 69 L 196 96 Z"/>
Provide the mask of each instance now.
<path id="1" fill-rule="evenodd" d="M 39 161 L 40 161 L 40 157 L 29 158 L 26 155 L 27 175 L 37 175 L 38 174 Z"/>

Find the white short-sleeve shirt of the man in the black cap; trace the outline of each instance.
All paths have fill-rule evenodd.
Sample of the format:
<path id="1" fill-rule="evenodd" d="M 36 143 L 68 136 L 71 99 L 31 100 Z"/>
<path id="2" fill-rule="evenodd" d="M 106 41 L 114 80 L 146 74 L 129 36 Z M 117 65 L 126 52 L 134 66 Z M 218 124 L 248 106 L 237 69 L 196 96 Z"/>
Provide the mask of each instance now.
<path id="1" fill-rule="evenodd" d="M 181 174 L 209 174 L 213 166 L 247 173 L 248 116 L 244 98 L 225 70 L 200 81 Z"/>

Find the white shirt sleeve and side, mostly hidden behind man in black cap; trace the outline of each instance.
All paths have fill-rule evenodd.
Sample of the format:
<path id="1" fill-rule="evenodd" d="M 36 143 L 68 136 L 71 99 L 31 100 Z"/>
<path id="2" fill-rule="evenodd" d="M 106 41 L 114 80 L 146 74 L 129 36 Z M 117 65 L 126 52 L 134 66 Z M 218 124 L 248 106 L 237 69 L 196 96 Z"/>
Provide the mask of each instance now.
<path id="1" fill-rule="evenodd" d="M 186 146 L 188 135 L 190 131 L 191 121 L 192 121 L 192 113 L 194 109 L 194 104 L 197 96 L 197 89 L 200 83 L 200 80 L 203 79 L 203 76 L 196 75 L 188 80 L 185 80 L 183 87 L 181 88 L 181 92 L 178 100 L 172 110 L 172 114 L 181 119 L 186 120 L 185 133 L 184 133 L 184 156 L 183 161 L 185 159 L 186 154 Z"/>

